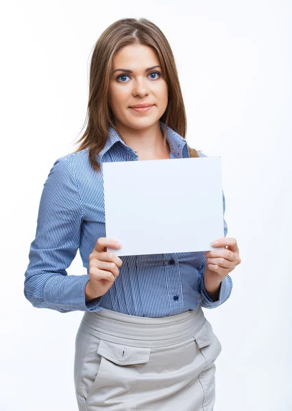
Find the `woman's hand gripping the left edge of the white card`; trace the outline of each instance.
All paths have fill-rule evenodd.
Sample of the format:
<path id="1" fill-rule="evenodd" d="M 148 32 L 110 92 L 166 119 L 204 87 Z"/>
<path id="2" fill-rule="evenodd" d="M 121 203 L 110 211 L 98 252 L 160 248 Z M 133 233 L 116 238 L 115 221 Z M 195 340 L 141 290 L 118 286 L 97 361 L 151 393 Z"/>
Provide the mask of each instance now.
<path id="1" fill-rule="evenodd" d="M 89 255 L 90 280 L 85 287 L 86 301 L 106 294 L 119 275 L 123 264 L 121 258 L 107 251 L 106 247 L 119 249 L 116 240 L 101 237 L 97 240 L 93 252 Z"/>

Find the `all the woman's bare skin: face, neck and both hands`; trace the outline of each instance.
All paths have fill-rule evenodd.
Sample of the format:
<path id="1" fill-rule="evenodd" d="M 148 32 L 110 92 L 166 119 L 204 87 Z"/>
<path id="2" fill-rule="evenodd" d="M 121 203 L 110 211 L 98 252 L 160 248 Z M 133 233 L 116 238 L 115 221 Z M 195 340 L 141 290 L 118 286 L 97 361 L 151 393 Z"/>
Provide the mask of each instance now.
<path id="1" fill-rule="evenodd" d="M 146 68 L 159 65 L 154 50 L 144 45 L 123 47 L 113 59 L 110 107 L 114 125 L 125 144 L 137 153 L 138 160 L 159 160 L 169 158 L 170 154 L 159 124 L 167 108 L 167 83 L 159 67 L 145 72 Z M 117 69 L 129 69 L 132 73 Z M 151 103 L 154 107 L 145 113 L 137 113 L 130 108 L 137 103 Z M 217 301 L 221 282 L 240 264 L 241 259 L 235 238 L 219 238 L 218 245 L 212 246 L 226 247 L 204 254 L 207 257 L 204 285 L 210 298 Z M 108 247 L 119 249 L 121 245 L 112 238 L 99 238 L 89 256 L 90 279 L 85 288 L 86 301 L 104 295 L 119 275 L 123 262 L 114 253 L 108 252 Z"/>

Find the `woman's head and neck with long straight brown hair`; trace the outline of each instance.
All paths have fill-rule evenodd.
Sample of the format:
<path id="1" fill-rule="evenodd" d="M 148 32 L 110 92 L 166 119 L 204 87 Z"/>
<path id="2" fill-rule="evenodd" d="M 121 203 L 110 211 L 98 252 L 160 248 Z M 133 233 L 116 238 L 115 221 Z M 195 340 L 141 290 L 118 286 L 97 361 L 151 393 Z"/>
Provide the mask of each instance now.
<path id="1" fill-rule="evenodd" d="M 163 134 L 159 121 L 165 125 Z M 75 153 L 88 149 L 91 166 L 100 171 L 99 154 L 110 128 L 138 153 L 138 160 L 170 158 L 168 127 L 185 138 L 186 112 L 167 38 L 146 18 L 112 23 L 93 50 L 87 127 Z M 199 157 L 195 149 L 187 150 L 189 157 Z"/>

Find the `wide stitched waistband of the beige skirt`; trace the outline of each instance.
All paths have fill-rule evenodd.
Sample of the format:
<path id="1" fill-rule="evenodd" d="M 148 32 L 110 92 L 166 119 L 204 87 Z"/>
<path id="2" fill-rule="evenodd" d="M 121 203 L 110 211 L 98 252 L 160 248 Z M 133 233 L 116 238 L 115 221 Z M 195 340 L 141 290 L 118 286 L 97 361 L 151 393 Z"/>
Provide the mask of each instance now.
<path id="1" fill-rule="evenodd" d="M 141 317 L 102 308 L 86 311 L 80 327 L 93 336 L 133 347 L 165 347 L 197 334 L 206 318 L 202 307 L 164 317 Z"/>

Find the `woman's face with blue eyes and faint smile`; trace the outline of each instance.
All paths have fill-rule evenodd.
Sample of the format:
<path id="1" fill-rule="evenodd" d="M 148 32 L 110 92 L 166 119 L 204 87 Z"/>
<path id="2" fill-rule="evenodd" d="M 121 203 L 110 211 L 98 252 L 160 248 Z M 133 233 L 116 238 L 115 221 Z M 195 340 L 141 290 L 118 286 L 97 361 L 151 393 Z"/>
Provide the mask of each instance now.
<path id="1" fill-rule="evenodd" d="M 167 102 L 167 82 L 162 77 L 154 49 L 145 45 L 129 45 L 114 55 L 110 107 L 117 127 L 119 123 L 134 129 L 149 127 L 159 121 Z M 150 104 L 151 108 L 145 112 L 131 108 L 139 103 Z"/>

